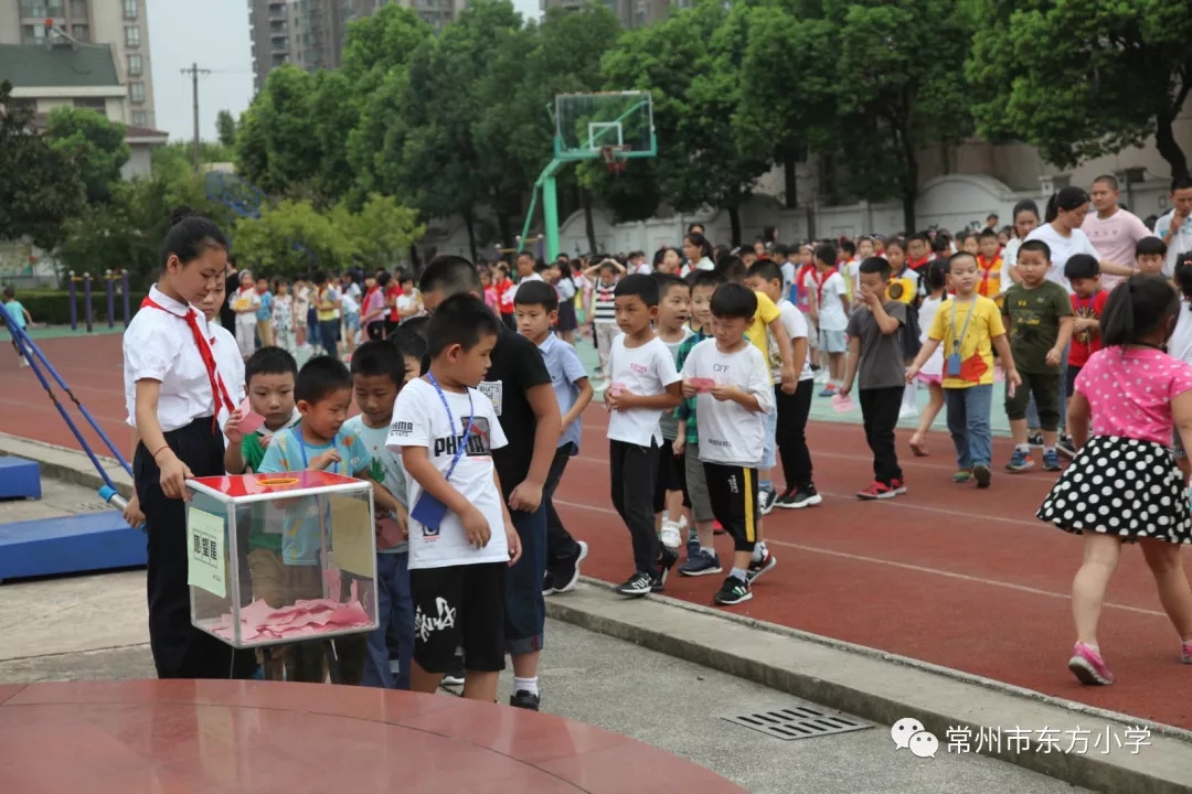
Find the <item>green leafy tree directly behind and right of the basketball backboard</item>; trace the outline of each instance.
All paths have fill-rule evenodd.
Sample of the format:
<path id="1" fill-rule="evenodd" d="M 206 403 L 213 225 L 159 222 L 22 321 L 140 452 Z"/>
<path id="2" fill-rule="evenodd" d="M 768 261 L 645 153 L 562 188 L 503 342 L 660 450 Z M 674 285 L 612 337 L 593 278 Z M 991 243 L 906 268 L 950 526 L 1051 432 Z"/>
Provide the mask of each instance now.
<path id="1" fill-rule="evenodd" d="M 726 210 L 733 243 L 740 242 L 740 207 L 769 167 L 734 133 L 747 25 L 746 6 L 700 0 L 662 24 L 629 31 L 603 61 L 608 89 L 653 92 L 653 170 L 663 199 L 681 212 Z"/>

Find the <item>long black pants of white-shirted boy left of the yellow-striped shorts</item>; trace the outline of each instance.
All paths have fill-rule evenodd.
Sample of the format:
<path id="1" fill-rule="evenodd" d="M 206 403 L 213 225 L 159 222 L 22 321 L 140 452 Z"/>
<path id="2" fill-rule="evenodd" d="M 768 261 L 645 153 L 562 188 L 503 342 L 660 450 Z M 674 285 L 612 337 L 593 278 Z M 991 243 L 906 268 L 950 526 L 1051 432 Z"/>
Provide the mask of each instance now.
<path id="1" fill-rule="evenodd" d="M 629 529 L 633 564 L 638 571 L 658 573 L 658 533 L 654 532 L 654 477 L 658 476 L 658 448 L 626 442 L 608 443 L 609 474 L 613 477 L 613 507 Z"/>

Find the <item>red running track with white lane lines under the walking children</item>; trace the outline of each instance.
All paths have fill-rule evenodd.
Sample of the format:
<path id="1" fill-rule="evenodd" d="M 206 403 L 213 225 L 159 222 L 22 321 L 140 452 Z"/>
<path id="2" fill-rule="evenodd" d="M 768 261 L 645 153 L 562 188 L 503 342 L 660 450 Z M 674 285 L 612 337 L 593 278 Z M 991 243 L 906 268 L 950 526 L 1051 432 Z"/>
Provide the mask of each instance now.
<path id="1" fill-rule="evenodd" d="M 125 445 L 119 337 L 52 339 L 43 350 Z M 77 446 L 29 370 L 4 357 L 0 373 L 0 431 Z M 590 544 L 584 573 L 620 582 L 633 562 L 608 495 L 606 424 L 598 405 L 584 415 L 583 452 L 567 467 L 555 504 L 571 532 Z M 825 501 L 766 517 L 778 565 L 734 612 L 1192 729 L 1192 700 L 1173 696 L 1187 692 L 1192 667 L 1179 663 L 1178 639 L 1137 549 L 1123 555 L 1101 619 L 1117 682 L 1088 688 L 1068 673 L 1068 593 L 1080 539 L 1033 518 L 1050 475 L 995 471 L 988 490 L 956 486 L 945 434 L 930 437 L 930 457 L 913 458 L 900 431 L 909 493 L 861 502 L 853 493 L 871 479 L 861 427 L 813 423 L 808 437 Z M 1008 455 L 1008 442 L 995 439 L 995 461 Z M 718 550 L 725 559 L 731 544 L 718 538 Z M 719 584 L 715 576 L 676 575 L 668 595 L 710 605 Z"/>

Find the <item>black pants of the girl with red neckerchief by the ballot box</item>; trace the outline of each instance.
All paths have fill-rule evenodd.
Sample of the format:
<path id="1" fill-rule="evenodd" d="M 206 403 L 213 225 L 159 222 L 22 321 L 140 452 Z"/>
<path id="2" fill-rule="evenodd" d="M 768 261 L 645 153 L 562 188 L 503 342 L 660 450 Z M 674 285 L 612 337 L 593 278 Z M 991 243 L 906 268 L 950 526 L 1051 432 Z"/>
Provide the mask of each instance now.
<path id="1" fill-rule="evenodd" d="M 223 436 L 211 417 L 166 433 L 166 443 L 195 477 L 222 475 Z M 191 625 L 186 584 L 186 502 L 168 499 L 161 470 L 144 444 L 137 445 L 132 475 L 149 533 L 149 646 L 160 679 L 248 679 L 256 670 L 252 651 L 229 645 Z"/>

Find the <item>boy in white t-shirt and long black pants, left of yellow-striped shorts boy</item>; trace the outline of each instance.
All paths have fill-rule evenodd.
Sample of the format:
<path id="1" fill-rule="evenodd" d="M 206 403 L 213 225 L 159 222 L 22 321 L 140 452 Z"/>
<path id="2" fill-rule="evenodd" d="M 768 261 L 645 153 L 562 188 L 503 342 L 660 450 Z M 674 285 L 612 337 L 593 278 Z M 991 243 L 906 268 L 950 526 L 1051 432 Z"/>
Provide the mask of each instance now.
<path id="1" fill-rule="evenodd" d="M 633 539 L 634 571 L 616 588 L 621 595 L 642 596 L 662 589 L 666 569 L 654 531 L 654 481 L 663 434 L 658 420 L 679 401 L 679 379 L 670 350 L 654 336 L 658 282 L 631 274 L 614 294 L 616 325 L 622 333 L 608 354 L 609 387 L 604 393 L 608 420 L 613 506 Z"/>

